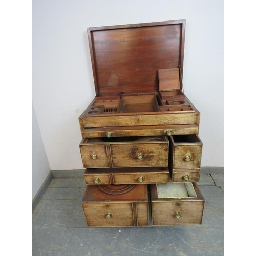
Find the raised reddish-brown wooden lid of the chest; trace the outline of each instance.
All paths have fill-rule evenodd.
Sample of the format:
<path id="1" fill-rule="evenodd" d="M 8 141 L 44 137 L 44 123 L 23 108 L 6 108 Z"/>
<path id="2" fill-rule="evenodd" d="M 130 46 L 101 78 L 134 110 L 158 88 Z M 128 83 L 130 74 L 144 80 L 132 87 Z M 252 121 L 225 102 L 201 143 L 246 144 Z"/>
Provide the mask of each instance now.
<path id="1" fill-rule="evenodd" d="M 96 95 L 159 90 L 158 70 L 183 71 L 185 20 L 88 28 Z"/>

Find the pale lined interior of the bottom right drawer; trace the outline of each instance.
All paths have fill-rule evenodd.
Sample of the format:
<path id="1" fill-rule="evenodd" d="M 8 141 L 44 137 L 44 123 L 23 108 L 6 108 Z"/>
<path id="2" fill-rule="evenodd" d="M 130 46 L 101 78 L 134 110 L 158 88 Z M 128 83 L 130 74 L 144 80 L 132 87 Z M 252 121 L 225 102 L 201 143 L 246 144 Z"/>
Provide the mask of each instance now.
<path id="1" fill-rule="evenodd" d="M 158 198 L 191 198 L 197 197 L 192 183 L 157 184 Z"/>

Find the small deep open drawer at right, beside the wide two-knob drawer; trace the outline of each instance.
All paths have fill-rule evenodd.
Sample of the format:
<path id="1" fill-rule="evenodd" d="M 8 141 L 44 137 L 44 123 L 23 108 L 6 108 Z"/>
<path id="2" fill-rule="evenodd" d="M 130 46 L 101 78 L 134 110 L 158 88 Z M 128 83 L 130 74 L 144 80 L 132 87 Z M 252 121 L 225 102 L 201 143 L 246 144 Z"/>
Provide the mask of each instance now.
<path id="1" fill-rule="evenodd" d="M 196 134 L 170 136 L 171 169 L 200 169 L 203 143 Z"/>

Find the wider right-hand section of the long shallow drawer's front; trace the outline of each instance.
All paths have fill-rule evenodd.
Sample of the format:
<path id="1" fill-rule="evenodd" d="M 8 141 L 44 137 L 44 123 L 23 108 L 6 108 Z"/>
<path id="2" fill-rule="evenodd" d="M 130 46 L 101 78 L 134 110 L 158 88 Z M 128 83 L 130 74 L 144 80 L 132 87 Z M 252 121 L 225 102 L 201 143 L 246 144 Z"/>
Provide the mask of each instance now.
<path id="1" fill-rule="evenodd" d="M 148 173 L 113 174 L 114 184 L 168 183 L 169 171 Z"/>

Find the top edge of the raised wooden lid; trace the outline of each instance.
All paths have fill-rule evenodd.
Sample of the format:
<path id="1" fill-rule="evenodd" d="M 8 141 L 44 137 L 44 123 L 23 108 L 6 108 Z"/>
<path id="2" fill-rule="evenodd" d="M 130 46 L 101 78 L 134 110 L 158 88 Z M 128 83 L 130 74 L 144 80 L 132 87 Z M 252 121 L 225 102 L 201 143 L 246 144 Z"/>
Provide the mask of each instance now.
<path id="1" fill-rule="evenodd" d="M 87 31 L 89 33 L 90 31 L 97 31 L 97 30 L 138 28 L 138 27 L 161 26 L 161 25 L 172 25 L 172 24 L 184 24 L 185 25 L 186 19 L 167 20 L 167 21 L 163 21 L 163 22 L 150 22 L 150 23 L 123 24 L 123 25 L 114 25 L 114 26 L 103 26 L 103 27 L 90 27 L 90 28 L 87 28 Z"/>

